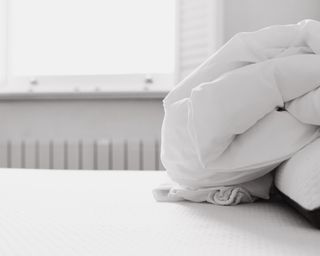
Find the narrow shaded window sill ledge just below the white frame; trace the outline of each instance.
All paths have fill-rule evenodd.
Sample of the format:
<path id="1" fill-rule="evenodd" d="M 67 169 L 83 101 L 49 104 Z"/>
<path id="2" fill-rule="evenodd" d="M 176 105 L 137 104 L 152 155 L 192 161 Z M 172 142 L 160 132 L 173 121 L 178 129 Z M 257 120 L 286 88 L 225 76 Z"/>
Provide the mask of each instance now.
<path id="1" fill-rule="evenodd" d="M 6 100 L 103 100 L 103 99 L 158 99 L 162 100 L 167 89 L 99 89 L 67 90 L 49 88 L 0 89 L 0 101 Z"/>

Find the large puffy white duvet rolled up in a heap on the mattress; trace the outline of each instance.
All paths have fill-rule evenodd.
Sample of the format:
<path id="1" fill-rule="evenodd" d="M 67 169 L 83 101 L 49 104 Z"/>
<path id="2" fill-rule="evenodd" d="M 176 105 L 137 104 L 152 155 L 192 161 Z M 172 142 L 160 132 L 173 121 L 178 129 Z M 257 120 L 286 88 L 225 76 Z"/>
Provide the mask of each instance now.
<path id="1" fill-rule="evenodd" d="M 319 136 L 319 86 L 319 22 L 233 37 L 164 100 L 161 157 L 174 184 L 156 199 L 268 198 L 270 172 Z"/>

